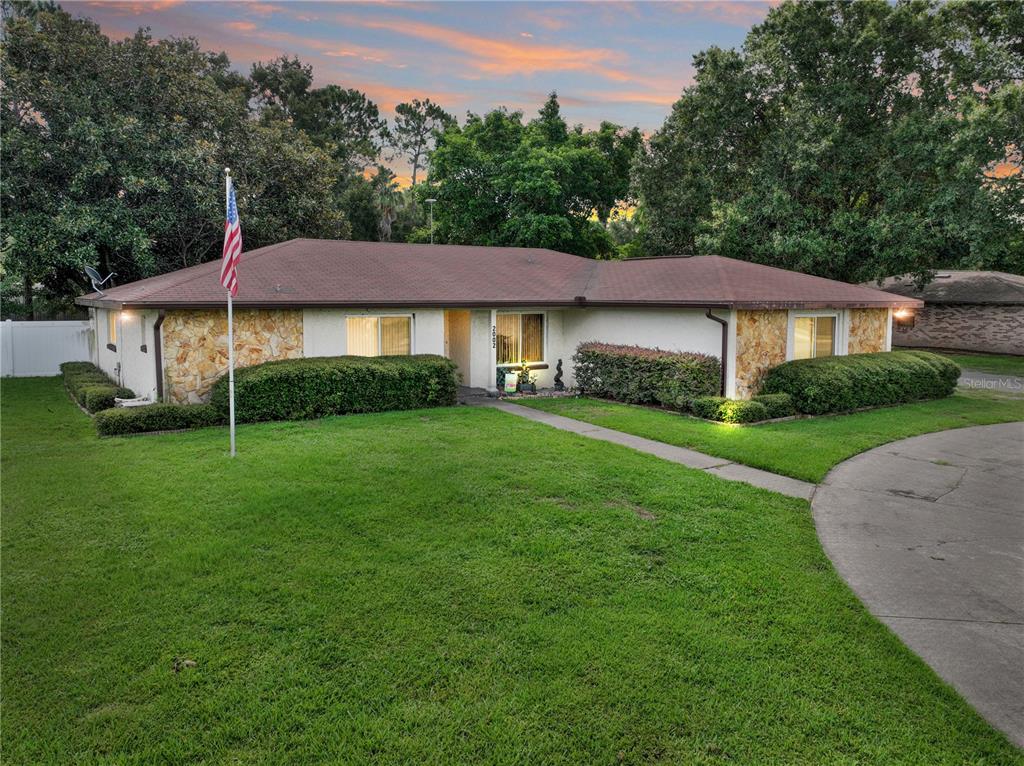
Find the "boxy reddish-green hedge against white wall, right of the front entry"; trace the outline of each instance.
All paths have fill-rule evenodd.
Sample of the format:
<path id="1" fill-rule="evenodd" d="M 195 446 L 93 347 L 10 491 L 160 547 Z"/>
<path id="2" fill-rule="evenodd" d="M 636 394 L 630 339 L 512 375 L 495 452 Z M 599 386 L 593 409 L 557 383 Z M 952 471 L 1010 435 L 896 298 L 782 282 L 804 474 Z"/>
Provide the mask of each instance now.
<path id="1" fill-rule="evenodd" d="M 633 405 L 686 410 L 721 385 L 719 360 L 702 353 L 581 343 L 572 364 L 580 391 Z"/>

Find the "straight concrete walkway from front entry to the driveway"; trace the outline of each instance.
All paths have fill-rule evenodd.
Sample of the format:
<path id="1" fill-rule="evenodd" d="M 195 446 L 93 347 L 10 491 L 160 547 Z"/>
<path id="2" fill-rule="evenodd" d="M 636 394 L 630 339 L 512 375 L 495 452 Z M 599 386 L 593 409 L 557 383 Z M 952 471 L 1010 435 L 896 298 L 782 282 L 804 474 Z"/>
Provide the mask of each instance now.
<path id="1" fill-rule="evenodd" d="M 680 465 L 687 466 L 688 468 L 696 468 L 697 470 L 707 471 L 708 473 L 713 473 L 716 476 L 721 476 L 722 478 L 731 479 L 733 481 L 744 481 L 748 484 L 761 486 L 765 490 L 771 490 L 772 492 L 777 492 L 782 495 L 788 495 L 793 498 L 810 500 L 811 496 L 814 494 L 814 484 L 808 483 L 807 481 L 790 478 L 788 476 L 779 476 L 777 473 L 769 473 L 768 471 L 762 471 L 758 468 L 751 468 L 750 466 L 733 463 L 732 461 L 725 460 L 724 458 L 713 458 L 710 455 L 705 455 L 703 453 L 698 453 L 693 450 L 687 450 L 682 446 L 674 446 L 672 444 L 666 444 L 662 441 L 645 439 L 642 436 L 634 436 L 629 433 L 623 433 L 622 431 L 614 431 L 610 428 L 603 428 L 602 426 L 595 426 L 591 423 L 584 423 L 580 420 L 563 418 L 561 415 L 552 415 L 551 413 L 546 413 L 541 410 L 534 410 L 529 407 L 513 405 L 511 402 L 501 401 L 498 399 L 481 398 L 471 403 L 483 407 L 493 407 L 504 413 L 518 415 L 521 418 L 534 420 L 538 423 L 544 423 L 545 425 L 553 426 L 554 428 L 559 428 L 563 431 L 579 433 L 581 436 L 588 436 L 593 439 L 600 439 L 601 441 L 610 441 L 614 444 L 622 444 L 623 446 L 631 446 L 634 450 L 647 453 L 648 455 L 655 455 L 658 458 L 664 458 L 665 460 L 671 460 L 673 463 L 679 463 Z"/>

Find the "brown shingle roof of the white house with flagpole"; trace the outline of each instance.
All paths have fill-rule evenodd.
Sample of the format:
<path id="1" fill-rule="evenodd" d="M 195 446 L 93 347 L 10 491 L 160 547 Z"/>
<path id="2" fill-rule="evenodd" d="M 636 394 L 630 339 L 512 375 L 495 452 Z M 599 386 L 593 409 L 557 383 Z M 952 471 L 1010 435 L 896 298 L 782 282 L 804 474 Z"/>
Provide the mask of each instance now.
<path id="1" fill-rule="evenodd" d="M 113 308 L 220 307 L 219 262 L 78 299 Z M 239 307 L 916 306 L 857 285 L 720 256 L 595 261 L 552 250 L 291 240 L 242 256 Z"/>

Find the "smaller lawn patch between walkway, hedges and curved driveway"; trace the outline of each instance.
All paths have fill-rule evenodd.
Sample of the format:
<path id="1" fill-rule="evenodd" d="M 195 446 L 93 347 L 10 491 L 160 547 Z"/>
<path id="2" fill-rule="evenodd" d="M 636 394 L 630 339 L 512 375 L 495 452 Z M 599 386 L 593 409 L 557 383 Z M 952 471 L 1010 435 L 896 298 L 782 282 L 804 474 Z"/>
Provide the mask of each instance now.
<path id="1" fill-rule="evenodd" d="M 973 391 L 851 415 L 754 426 L 710 423 L 583 397 L 519 403 L 813 482 L 821 481 L 833 466 L 847 458 L 889 441 L 948 428 L 1024 420 L 1024 399 Z"/>

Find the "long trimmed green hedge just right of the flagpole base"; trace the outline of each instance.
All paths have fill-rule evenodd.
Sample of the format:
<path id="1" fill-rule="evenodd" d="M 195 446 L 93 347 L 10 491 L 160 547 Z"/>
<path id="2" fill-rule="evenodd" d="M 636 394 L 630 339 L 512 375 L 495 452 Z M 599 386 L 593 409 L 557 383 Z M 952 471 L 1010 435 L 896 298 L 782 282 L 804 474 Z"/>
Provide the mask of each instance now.
<path id="1" fill-rule="evenodd" d="M 234 415 L 252 423 L 447 407 L 458 389 L 455 364 L 432 354 L 284 359 L 236 371 Z M 227 376 L 210 402 L 227 416 Z"/>

